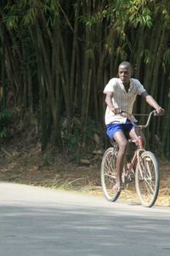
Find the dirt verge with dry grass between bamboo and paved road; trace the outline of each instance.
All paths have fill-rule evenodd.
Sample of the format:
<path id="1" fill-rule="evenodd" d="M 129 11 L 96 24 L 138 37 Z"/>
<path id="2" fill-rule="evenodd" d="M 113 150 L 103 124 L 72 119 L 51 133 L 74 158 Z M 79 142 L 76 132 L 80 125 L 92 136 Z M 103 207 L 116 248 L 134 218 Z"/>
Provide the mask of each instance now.
<path id="1" fill-rule="evenodd" d="M 41 154 L 40 146 L 3 145 L 0 154 L 0 180 L 25 183 L 54 189 L 78 190 L 102 196 L 99 169 L 102 155 L 96 155 L 84 164 L 68 161 L 55 150 Z M 162 161 L 161 186 L 156 205 L 170 206 L 170 163 Z M 123 190 L 121 199 L 138 201 L 134 184 Z"/>

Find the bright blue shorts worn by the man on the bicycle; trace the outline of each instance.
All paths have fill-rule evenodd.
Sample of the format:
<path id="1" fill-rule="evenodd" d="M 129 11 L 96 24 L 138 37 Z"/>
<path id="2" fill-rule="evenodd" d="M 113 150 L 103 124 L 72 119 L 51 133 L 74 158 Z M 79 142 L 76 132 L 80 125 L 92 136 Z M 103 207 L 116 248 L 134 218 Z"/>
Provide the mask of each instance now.
<path id="1" fill-rule="evenodd" d="M 135 126 L 131 123 L 129 119 L 126 120 L 126 123 L 114 123 L 110 125 L 106 125 L 106 133 L 107 135 L 112 139 L 114 139 L 114 136 L 116 134 L 116 131 L 122 131 L 125 136 L 129 137 L 129 132 L 133 130 Z"/>

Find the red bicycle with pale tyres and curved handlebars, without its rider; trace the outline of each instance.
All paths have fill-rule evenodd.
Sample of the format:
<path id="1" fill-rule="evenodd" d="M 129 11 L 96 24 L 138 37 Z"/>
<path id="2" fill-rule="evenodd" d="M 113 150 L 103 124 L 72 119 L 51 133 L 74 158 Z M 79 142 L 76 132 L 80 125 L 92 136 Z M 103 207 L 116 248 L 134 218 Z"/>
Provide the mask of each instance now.
<path id="1" fill-rule="evenodd" d="M 157 114 L 156 110 L 154 110 L 150 112 L 150 114 L 144 115 L 148 115 L 146 124 L 135 125 L 141 130 L 147 128 L 150 124 L 151 116 Z M 130 115 L 128 113 L 127 117 L 130 119 Z M 131 122 L 133 123 L 132 119 Z M 152 207 L 156 202 L 160 183 L 159 166 L 156 156 L 152 152 L 144 149 L 144 141 L 142 137 L 139 137 L 138 142 L 131 139 L 129 139 L 128 142 L 137 144 L 137 148 L 134 150 L 130 163 L 123 166 L 122 187 L 125 188 L 126 184 L 134 179 L 139 201 L 144 207 Z M 105 198 L 108 201 L 116 201 L 121 194 L 121 191 L 113 190 L 113 186 L 116 183 L 116 154 L 118 151 L 118 145 L 113 141 L 111 144 L 112 147 L 105 150 L 105 154 L 102 158 L 100 177 L 101 187 Z"/>

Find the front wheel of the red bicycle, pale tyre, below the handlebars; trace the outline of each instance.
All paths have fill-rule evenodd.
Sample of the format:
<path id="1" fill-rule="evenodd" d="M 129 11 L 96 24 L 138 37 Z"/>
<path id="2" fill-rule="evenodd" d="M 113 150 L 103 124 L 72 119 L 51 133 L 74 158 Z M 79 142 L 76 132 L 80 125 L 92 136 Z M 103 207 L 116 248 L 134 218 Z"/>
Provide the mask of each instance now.
<path id="1" fill-rule="evenodd" d="M 150 151 L 139 156 L 135 172 L 136 191 L 144 207 L 152 207 L 159 192 L 159 167 L 156 157 Z"/>

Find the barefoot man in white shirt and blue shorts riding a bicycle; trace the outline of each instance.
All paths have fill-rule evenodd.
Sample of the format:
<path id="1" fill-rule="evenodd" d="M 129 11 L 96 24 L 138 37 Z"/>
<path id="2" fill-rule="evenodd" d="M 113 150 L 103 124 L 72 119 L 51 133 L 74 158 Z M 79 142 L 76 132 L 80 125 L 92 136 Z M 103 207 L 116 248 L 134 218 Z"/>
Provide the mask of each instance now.
<path id="1" fill-rule="evenodd" d="M 143 136 L 141 131 L 135 128 L 129 119 L 122 116 L 122 112 L 132 113 L 133 103 L 136 96 L 140 95 L 144 98 L 152 108 L 160 115 L 164 110 L 158 105 L 152 96 L 150 96 L 144 86 L 140 84 L 138 79 L 133 79 L 133 68 L 127 61 L 123 61 L 118 67 L 118 78 L 113 78 L 105 85 L 105 102 L 107 108 L 105 111 L 106 133 L 118 144 L 118 153 L 116 156 L 116 185 L 113 187 L 115 191 L 122 189 L 122 168 L 123 161 L 127 151 L 127 139 L 138 140 L 139 136 Z"/>

